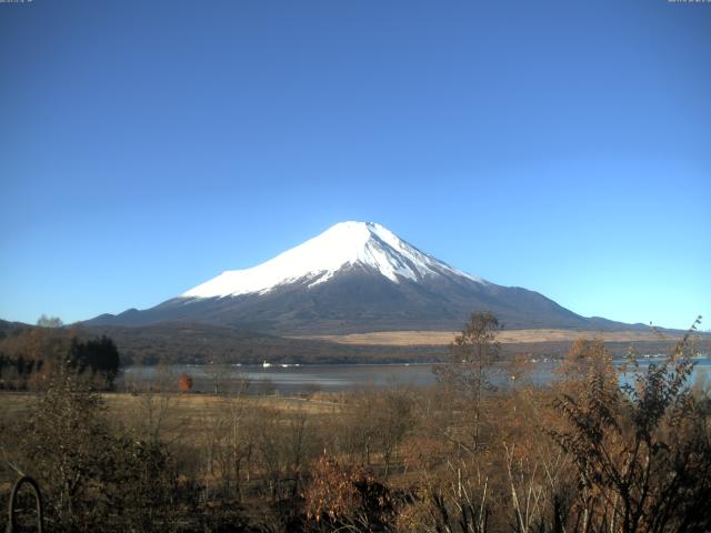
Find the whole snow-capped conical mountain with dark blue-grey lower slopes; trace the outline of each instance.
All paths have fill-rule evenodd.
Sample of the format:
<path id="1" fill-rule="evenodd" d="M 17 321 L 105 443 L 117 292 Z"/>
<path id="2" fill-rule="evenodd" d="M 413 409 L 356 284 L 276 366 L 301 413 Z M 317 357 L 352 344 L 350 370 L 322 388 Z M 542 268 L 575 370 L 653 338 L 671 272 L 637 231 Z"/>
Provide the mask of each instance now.
<path id="1" fill-rule="evenodd" d="M 517 286 L 470 275 L 372 222 L 341 222 L 276 258 L 230 270 L 147 310 L 87 325 L 198 322 L 278 334 L 453 331 L 492 311 L 507 329 L 620 330 Z"/>

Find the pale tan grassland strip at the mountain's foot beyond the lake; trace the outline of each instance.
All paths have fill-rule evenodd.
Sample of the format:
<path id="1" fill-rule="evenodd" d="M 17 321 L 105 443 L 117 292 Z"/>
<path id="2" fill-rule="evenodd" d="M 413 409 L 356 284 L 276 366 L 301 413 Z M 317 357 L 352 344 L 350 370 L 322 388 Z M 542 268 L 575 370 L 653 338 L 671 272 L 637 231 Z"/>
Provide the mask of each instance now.
<path id="1" fill-rule="evenodd" d="M 301 336 L 299 339 L 318 339 L 340 344 L 414 346 L 447 345 L 458 335 L 455 331 L 379 331 L 373 333 L 350 333 L 344 335 Z M 681 334 L 670 335 L 651 331 L 575 331 L 575 330 L 503 330 L 497 339 L 503 344 L 523 342 L 567 342 L 581 336 L 588 339 L 603 338 L 608 342 L 661 341 L 678 340 Z"/>

